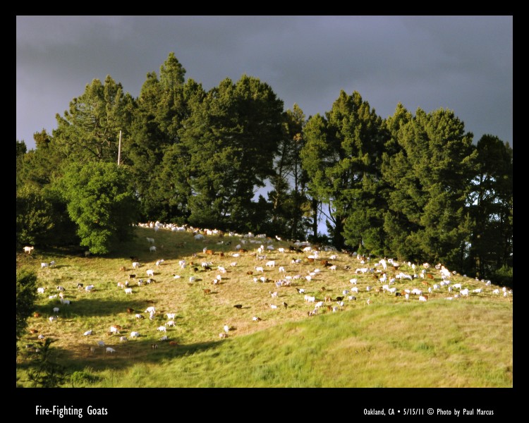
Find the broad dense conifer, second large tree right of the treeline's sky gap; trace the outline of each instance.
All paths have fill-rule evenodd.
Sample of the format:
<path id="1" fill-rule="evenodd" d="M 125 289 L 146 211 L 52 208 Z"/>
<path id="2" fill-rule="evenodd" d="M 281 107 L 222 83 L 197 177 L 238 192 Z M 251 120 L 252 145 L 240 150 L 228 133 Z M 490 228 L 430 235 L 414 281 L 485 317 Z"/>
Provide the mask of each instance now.
<path id="1" fill-rule="evenodd" d="M 466 201 L 475 174 L 475 147 L 453 111 L 415 117 L 398 107 L 388 123 L 394 154 L 384 157 L 390 192 L 384 228 L 401 259 L 461 269 L 472 229 Z"/>

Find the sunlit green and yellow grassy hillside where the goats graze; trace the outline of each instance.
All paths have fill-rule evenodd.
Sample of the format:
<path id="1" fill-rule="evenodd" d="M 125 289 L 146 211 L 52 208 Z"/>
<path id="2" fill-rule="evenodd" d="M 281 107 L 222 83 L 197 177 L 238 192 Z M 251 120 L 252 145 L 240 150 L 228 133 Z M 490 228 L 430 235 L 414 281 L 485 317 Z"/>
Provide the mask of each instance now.
<path id="1" fill-rule="evenodd" d="M 409 300 L 387 292 L 375 292 L 382 287 L 381 274 L 355 274 L 360 264 L 355 257 L 337 252 L 320 252 L 315 263 L 308 254 L 288 252 L 291 243 L 255 239 L 242 247 L 240 257 L 233 257 L 239 237 L 217 235 L 194 240 L 191 233 L 149 228 L 136 228 L 133 242 L 123 244 L 121 251 L 108 257 L 84 257 L 68 251 L 38 251 L 32 255 L 17 255 L 17 267 L 34 269 L 39 286 L 47 287 L 39 295 L 36 312 L 31 317 L 30 334 L 20 341 L 18 381 L 28 386 L 28 362 L 38 334 L 56 339 L 55 358 L 73 374 L 69 386 L 93 387 L 511 387 L 513 366 L 513 303 L 512 296 L 504 298 L 483 281 L 455 275 L 451 283 L 461 283 L 472 291 L 468 298 L 447 297 L 442 286 L 427 293 L 422 278 L 409 281 L 397 279 L 393 287 L 420 288 L 429 296 L 420 302 L 416 295 Z M 146 238 L 154 238 L 157 252 L 150 252 Z M 267 258 L 256 257 L 257 247 L 271 245 Z M 278 252 L 279 247 L 287 252 Z M 206 255 L 203 249 L 214 252 Z M 224 253 L 221 257 L 220 253 Z M 329 257 L 336 254 L 336 259 Z M 195 257 L 193 257 L 195 255 Z M 140 269 L 132 269 L 130 256 L 140 259 Z M 159 266 L 155 262 L 164 259 Z M 301 259 L 299 264 L 293 259 Z M 336 271 L 321 264 L 327 259 L 336 264 Z M 56 261 L 54 268 L 40 269 L 41 262 Z M 180 260 L 186 260 L 181 269 Z M 274 268 L 265 262 L 275 260 Z M 212 262 L 212 271 L 202 269 L 202 262 Z M 231 266 L 231 263 L 235 266 Z M 193 263 L 193 264 L 191 264 Z M 121 267 L 126 268 L 125 271 Z M 226 274 L 220 274 L 224 266 Z M 255 266 L 265 267 L 261 274 Z M 274 281 L 284 278 L 279 273 L 284 266 L 286 275 L 300 275 L 291 286 L 276 287 Z M 346 270 L 346 266 L 351 269 Z M 196 268 L 196 270 L 194 269 Z M 140 278 L 147 280 L 146 270 L 153 269 L 154 282 L 138 286 Z M 311 281 L 310 271 L 320 269 Z M 376 269 L 382 269 L 377 266 Z M 457 270 L 457 269 L 456 269 Z M 253 274 L 248 274 L 253 271 Z M 407 264 L 399 270 L 387 271 L 388 278 L 403 271 L 413 274 Z M 420 269 L 416 269 L 418 273 Z M 430 288 L 439 284 L 439 271 L 430 269 L 434 279 L 426 279 Z M 129 278 L 135 274 L 135 278 Z M 173 275 L 181 276 L 174 278 Z M 220 274 L 221 281 L 213 284 Z M 191 282 L 193 276 L 195 281 Z M 254 278 L 265 276 L 267 282 Z M 351 290 L 351 278 L 357 279 L 358 293 L 345 295 L 342 307 L 336 297 Z M 118 283 L 129 281 L 133 293 L 127 295 Z M 89 293 L 78 290 L 93 283 Z M 61 305 L 56 286 L 66 288 L 64 298 L 71 305 Z M 367 291 L 367 286 L 372 289 Z M 317 315 L 308 317 L 314 309 L 304 300 L 305 294 L 325 302 Z M 205 294 L 204 290 L 211 292 Z M 457 290 L 456 290 L 457 291 Z M 270 293 L 277 292 L 272 298 Z M 356 300 L 348 300 L 355 295 Z M 367 304 L 370 300 L 370 304 Z M 283 302 L 287 306 L 284 307 Z M 276 305 L 272 309 L 270 305 Z M 233 305 L 242 305 L 240 309 Z M 157 310 L 150 320 L 147 307 Z M 59 307 L 59 319 L 48 320 L 53 307 Z M 127 308 L 141 313 L 145 319 L 135 319 Z M 338 307 L 336 312 L 332 307 Z M 176 326 L 168 327 L 166 336 L 178 345 L 161 341 L 164 333 L 157 328 L 168 321 L 166 313 L 176 313 Z M 253 321 L 259 317 L 260 321 Z M 111 325 L 120 325 L 120 334 L 109 335 Z M 223 326 L 230 327 L 225 339 L 219 337 Z M 87 330 L 92 335 L 83 336 Z M 140 337 L 120 341 L 138 331 Z M 116 350 L 105 353 L 97 346 L 104 341 Z M 157 348 L 153 349 L 152 345 Z M 95 347 L 92 352 L 91 348 Z"/>

